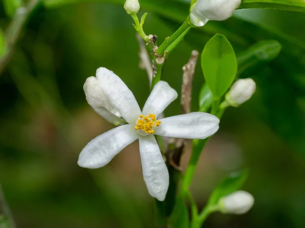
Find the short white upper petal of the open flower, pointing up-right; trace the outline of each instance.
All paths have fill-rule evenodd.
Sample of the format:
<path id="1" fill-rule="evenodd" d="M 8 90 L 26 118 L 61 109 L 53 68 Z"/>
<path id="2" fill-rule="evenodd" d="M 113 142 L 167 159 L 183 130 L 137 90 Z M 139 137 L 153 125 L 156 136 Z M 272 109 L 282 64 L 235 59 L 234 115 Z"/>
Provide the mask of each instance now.
<path id="1" fill-rule="evenodd" d="M 147 98 L 142 114 L 147 116 L 153 113 L 158 117 L 177 97 L 177 92 L 167 82 L 159 81 Z"/>

